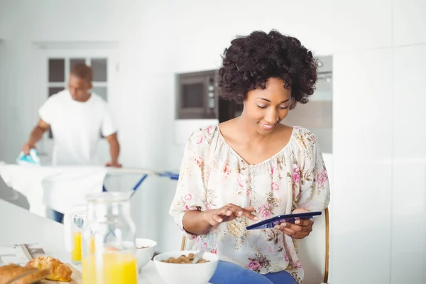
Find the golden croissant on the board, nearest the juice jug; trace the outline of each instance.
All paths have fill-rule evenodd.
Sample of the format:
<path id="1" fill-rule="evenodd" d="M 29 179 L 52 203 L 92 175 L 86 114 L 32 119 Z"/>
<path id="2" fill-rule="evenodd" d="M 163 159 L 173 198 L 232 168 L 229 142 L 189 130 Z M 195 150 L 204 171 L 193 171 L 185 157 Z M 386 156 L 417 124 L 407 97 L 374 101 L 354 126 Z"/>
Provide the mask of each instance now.
<path id="1" fill-rule="evenodd" d="M 50 275 L 46 279 L 62 282 L 70 282 L 72 270 L 58 259 L 50 256 L 39 256 L 31 259 L 26 266 L 38 269 L 49 269 Z"/>

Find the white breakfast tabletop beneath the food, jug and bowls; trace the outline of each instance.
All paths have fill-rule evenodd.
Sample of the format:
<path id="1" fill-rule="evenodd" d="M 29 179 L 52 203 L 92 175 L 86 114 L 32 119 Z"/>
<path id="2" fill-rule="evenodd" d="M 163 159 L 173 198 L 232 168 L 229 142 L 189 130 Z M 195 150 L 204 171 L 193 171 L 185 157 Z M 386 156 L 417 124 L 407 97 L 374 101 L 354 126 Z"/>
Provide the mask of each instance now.
<path id="1" fill-rule="evenodd" d="M 0 199 L 0 245 L 32 243 L 40 244 L 46 254 L 64 263 L 71 261 L 70 253 L 65 251 L 62 224 Z M 139 283 L 165 284 L 153 261 L 142 269 Z"/>

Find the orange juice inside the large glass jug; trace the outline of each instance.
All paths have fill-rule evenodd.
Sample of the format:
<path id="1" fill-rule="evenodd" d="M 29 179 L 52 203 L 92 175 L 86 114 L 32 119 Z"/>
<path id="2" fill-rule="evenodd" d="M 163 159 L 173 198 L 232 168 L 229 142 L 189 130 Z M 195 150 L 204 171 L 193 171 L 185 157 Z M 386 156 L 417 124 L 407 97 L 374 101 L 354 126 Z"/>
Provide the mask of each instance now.
<path id="1" fill-rule="evenodd" d="M 137 284 L 137 259 L 131 253 L 108 252 L 100 269 L 95 266 L 94 254 L 82 261 L 83 284 Z"/>

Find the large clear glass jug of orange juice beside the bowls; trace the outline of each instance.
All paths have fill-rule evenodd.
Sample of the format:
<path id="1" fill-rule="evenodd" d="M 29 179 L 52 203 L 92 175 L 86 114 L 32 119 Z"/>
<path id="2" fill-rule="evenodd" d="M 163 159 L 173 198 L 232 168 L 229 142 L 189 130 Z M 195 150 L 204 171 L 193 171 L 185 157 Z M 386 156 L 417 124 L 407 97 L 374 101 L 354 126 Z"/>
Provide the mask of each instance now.
<path id="1" fill-rule="evenodd" d="M 82 230 L 83 284 L 138 283 L 136 228 L 129 198 L 125 192 L 87 196 Z"/>

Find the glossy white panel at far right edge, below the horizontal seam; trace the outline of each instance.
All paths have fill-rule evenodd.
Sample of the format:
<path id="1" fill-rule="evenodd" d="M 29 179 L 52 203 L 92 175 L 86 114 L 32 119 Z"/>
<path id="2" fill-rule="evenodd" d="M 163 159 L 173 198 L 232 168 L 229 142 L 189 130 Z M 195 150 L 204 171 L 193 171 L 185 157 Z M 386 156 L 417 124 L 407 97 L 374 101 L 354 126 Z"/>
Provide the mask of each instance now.
<path id="1" fill-rule="evenodd" d="M 423 7 L 426 12 L 426 6 Z M 424 33 L 416 26 L 411 28 L 411 33 Z M 425 62 L 426 38 L 423 44 L 397 46 L 393 50 L 391 269 L 394 283 L 416 283 L 421 275 L 423 282 L 426 281 L 426 115 L 422 107 L 426 98 L 420 83 L 425 80 Z M 398 270 L 415 273 L 402 275 Z"/>

